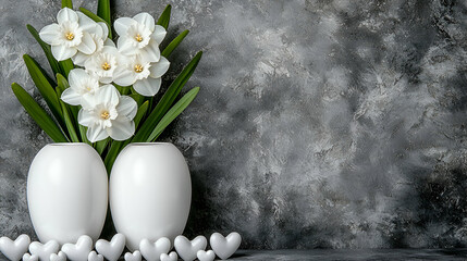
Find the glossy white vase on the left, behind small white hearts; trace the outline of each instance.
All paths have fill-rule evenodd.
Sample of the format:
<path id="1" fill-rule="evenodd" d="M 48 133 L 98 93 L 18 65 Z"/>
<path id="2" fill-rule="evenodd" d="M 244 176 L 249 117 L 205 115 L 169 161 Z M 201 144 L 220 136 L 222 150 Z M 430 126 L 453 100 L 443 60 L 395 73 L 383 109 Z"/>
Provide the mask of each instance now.
<path id="1" fill-rule="evenodd" d="M 106 221 L 108 177 L 100 156 L 87 144 L 50 144 L 34 158 L 27 204 L 40 241 L 98 239 Z"/>

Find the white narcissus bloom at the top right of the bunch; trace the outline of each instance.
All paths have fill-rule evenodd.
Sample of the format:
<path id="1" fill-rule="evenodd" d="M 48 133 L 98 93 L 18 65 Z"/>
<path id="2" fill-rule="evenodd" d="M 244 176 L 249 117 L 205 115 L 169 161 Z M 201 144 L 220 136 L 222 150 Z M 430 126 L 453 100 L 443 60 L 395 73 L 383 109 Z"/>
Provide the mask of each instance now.
<path id="1" fill-rule="evenodd" d="M 160 59 L 159 45 L 165 37 L 165 29 L 156 25 L 155 18 L 148 13 L 139 13 L 133 18 L 121 17 L 113 23 L 120 36 L 116 42 L 119 51 L 124 55 L 140 54 L 150 62 Z"/>

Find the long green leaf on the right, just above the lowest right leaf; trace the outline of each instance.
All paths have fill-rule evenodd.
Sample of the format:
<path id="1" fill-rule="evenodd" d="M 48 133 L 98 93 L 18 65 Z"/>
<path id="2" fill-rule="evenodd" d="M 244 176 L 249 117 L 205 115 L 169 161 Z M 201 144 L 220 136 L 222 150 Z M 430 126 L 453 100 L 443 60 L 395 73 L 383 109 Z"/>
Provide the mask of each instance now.
<path id="1" fill-rule="evenodd" d="M 175 101 L 183 86 L 186 84 L 186 82 L 188 82 L 189 77 L 195 72 L 195 69 L 198 65 L 201 55 L 202 51 L 196 53 L 196 55 L 185 66 L 182 73 L 180 73 L 175 80 L 173 80 L 165 94 L 160 99 L 159 103 L 156 105 L 156 108 L 143 123 L 139 130 L 133 137 L 132 142 L 144 142 L 148 139 L 156 125 L 159 123 L 165 112 L 169 111 L 170 107 Z"/>

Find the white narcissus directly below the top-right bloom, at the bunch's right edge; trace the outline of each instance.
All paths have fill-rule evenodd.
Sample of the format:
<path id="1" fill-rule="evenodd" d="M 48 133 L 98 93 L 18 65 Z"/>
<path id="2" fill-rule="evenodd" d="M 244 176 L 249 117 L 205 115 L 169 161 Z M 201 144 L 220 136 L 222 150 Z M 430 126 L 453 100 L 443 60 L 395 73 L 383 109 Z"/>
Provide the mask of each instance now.
<path id="1" fill-rule="evenodd" d="M 127 58 L 127 63 L 115 70 L 113 82 L 121 86 L 133 85 L 143 96 L 155 96 L 162 83 L 162 75 L 169 70 L 170 62 L 161 57 L 158 62 L 149 62 L 142 55 Z"/>

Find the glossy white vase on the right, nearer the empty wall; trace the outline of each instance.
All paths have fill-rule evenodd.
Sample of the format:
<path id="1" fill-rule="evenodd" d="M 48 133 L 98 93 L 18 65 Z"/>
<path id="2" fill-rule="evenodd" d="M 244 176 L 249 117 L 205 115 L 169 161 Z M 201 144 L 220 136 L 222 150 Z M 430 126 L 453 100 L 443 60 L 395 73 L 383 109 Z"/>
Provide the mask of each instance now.
<path id="1" fill-rule="evenodd" d="M 118 233 L 134 251 L 142 239 L 173 239 L 183 233 L 192 201 L 185 158 L 172 144 L 131 144 L 113 164 L 110 210 Z"/>

